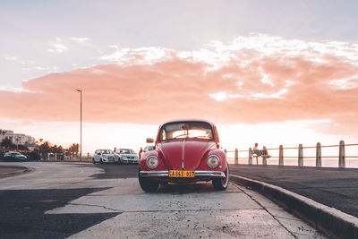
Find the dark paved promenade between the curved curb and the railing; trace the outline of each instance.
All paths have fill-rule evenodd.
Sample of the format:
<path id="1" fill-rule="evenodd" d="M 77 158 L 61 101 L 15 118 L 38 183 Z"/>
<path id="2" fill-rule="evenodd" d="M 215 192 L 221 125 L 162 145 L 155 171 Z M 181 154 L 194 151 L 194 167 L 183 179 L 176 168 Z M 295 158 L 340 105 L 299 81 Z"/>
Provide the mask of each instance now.
<path id="1" fill-rule="evenodd" d="M 231 174 L 277 185 L 358 217 L 358 169 L 230 165 L 230 170 Z"/>

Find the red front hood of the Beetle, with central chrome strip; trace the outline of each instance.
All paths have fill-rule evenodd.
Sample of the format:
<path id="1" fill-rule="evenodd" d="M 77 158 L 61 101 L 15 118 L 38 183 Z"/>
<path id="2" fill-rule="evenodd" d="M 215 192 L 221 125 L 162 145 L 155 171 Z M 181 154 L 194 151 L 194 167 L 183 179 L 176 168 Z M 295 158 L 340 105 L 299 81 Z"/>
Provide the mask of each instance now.
<path id="1" fill-rule="evenodd" d="M 159 143 L 158 150 L 165 158 L 169 170 L 195 170 L 200 166 L 201 158 L 215 145 L 213 141 L 184 139 Z"/>

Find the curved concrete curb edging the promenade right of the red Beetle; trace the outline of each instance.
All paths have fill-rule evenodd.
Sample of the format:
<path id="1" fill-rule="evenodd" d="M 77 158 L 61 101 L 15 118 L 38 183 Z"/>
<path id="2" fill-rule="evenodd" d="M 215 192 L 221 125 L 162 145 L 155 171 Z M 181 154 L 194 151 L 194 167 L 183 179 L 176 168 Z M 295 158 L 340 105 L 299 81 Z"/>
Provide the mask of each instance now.
<path id="1" fill-rule="evenodd" d="M 250 186 L 268 198 L 283 204 L 294 214 L 311 222 L 322 231 L 339 238 L 358 238 L 358 218 L 330 208 L 295 192 L 238 175 L 230 175 L 232 182 Z"/>

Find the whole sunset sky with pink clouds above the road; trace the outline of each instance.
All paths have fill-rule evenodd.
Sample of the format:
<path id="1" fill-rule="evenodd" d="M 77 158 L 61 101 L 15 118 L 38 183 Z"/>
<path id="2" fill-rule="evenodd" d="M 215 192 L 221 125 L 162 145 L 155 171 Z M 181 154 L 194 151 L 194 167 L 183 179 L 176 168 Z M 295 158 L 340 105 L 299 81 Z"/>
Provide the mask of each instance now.
<path id="1" fill-rule="evenodd" d="M 358 142 L 357 1 L 1 1 L 0 129 L 83 152 L 173 118 L 223 147 Z"/>

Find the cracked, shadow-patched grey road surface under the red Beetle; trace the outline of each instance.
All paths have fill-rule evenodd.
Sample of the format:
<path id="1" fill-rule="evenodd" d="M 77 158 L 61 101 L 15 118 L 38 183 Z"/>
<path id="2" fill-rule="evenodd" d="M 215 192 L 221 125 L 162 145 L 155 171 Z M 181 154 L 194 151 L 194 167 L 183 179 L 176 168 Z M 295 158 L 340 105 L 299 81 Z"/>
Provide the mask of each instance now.
<path id="1" fill-rule="evenodd" d="M 0 166 L 10 163 L 0 163 Z M 138 166 L 27 162 L 0 179 L 1 238 L 325 238 L 257 192 L 229 184 L 141 191 Z"/>

